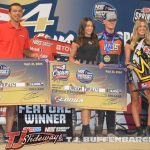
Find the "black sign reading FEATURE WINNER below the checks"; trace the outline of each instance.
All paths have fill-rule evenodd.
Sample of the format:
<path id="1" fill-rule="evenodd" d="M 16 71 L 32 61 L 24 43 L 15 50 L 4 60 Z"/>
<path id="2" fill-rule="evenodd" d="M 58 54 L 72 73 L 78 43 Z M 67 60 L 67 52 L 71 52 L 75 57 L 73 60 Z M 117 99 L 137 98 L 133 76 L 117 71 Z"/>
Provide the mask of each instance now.
<path id="1" fill-rule="evenodd" d="M 73 136 L 72 110 L 49 105 L 19 106 L 18 130 L 27 130 L 29 133 L 61 135 L 62 141 L 65 141 L 66 137 Z"/>

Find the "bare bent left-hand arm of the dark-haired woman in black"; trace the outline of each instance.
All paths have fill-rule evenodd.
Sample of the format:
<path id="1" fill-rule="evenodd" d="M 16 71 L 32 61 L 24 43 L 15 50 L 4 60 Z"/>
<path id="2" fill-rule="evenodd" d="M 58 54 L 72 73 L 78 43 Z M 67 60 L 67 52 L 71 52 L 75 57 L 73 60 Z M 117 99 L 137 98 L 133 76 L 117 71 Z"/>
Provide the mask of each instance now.
<path id="1" fill-rule="evenodd" d="M 77 43 L 75 43 L 75 42 L 72 43 L 72 45 L 71 45 L 71 53 L 69 55 L 69 62 L 80 64 L 79 61 L 75 60 L 75 56 L 77 54 L 78 47 L 79 47 L 79 45 Z"/>

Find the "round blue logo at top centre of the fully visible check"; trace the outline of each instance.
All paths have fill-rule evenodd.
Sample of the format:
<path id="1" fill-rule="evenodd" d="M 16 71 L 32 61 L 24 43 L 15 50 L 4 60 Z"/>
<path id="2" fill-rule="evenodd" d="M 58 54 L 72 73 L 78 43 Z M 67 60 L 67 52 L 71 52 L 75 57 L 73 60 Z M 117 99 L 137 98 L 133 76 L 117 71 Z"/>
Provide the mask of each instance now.
<path id="1" fill-rule="evenodd" d="M 76 78 L 81 83 L 90 83 L 93 80 L 93 73 L 87 69 L 79 69 L 76 73 Z"/>

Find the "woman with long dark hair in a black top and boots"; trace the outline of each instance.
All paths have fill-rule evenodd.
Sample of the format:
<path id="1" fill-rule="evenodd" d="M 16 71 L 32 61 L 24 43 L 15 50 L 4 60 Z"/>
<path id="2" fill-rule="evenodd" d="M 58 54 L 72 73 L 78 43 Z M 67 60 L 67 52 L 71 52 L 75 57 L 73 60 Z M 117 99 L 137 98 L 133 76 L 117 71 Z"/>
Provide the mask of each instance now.
<path id="1" fill-rule="evenodd" d="M 91 18 L 85 17 L 81 20 L 77 39 L 72 43 L 69 61 L 76 64 L 96 65 L 96 56 L 99 49 L 95 26 Z M 90 132 L 91 110 L 82 109 L 82 133 L 81 137 L 91 136 Z"/>

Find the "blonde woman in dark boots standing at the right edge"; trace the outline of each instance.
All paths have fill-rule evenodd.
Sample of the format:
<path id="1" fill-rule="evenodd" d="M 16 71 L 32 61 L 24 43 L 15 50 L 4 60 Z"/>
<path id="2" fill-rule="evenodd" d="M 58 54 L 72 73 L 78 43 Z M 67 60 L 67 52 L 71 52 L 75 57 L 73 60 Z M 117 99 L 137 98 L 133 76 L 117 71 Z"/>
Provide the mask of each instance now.
<path id="1" fill-rule="evenodd" d="M 143 129 L 140 123 L 140 111 L 139 111 L 139 92 L 135 92 L 138 87 L 136 83 L 133 82 L 133 54 L 137 51 L 137 46 L 139 43 L 142 43 L 141 49 L 138 50 L 140 55 L 145 61 L 149 61 L 149 53 L 150 53 L 150 34 L 149 34 L 149 27 L 148 23 L 144 19 L 139 19 L 135 22 L 133 27 L 133 34 L 130 40 L 127 41 L 125 45 L 125 64 L 127 68 L 130 69 L 128 73 L 128 86 L 131 94 L 131 109 L 132 109 L 132 116 L 135 122 L 135 126 L 137 129 L 137 136 L 144 136 Z M 149 51 L 145 52 L 144 47 L 147 46 Z M 138 57 L 137 57 L 138 58 Z M 147 97 L 148 104 L 150 104 L 150 93 L 148 90 L 144 90 L 144 93 Z M 146 135 L 150 136 L 150 105 L 148 106 L 148 122 L 147 122 L 147 129 Z"/>

